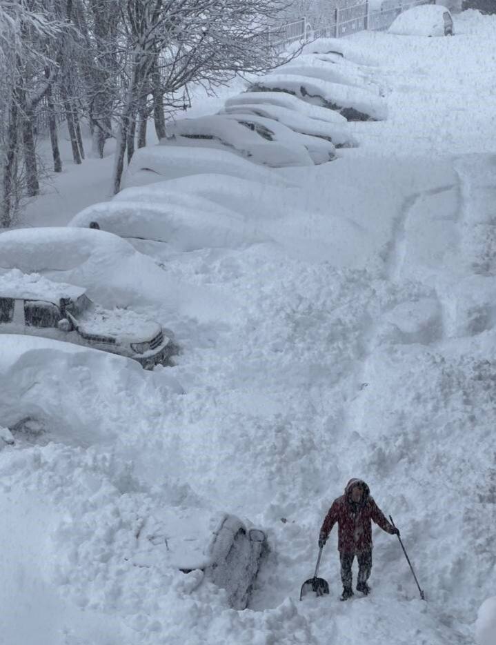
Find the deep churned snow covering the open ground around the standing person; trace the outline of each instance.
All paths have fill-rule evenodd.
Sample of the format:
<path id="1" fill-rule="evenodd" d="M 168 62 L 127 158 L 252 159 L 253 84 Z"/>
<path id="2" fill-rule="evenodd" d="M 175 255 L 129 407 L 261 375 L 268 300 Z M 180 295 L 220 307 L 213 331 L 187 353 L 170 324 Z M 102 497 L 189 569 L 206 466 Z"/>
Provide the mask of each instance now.
<path id="1" fill-rule="evenodd" d="M 280 170 L 292 186 L 272 201 L 264 186 L 230 201 L 246 217 L 272 214 L 269 241 L 137 243 L 166 286 L 177 279 L 197 297 L 171 314 L 166 286 L 155 303 L 149 286 L 135 295 L 183 347 L 168 370 L 183 393 L 161 369 L 106 380 L 77 364 L 65 377 L 59 358 L 52 376 L 44 368 L 46 391 L 72 393 L 77 415 L 61 406 L 52 443 L 0 454 L 3 642 L 475 642 L 496 566 L 496 17 L 466 12 L 455 31 L 353 37 L 377 61 L 388 120 L 353 123 L 360 147 L 337 161 Z M 107 159 L 68 167 L 57 212 L 41 197 L 29 223 L 65 224 L 101 200 L 105 172 Z M 36 390 L 22 375 L 26 400 Z M 53 393 L 49 408 L 56 419 Z M 331 593 L 299 602 L 350 477 L 393 515 L 427 602 L 380 531 L 368 599 L 339 602 L 333 531 L 321 565 Z M 221 508 L 266 530 L 272 550 L 248 610 L 197 588 L 195 573 L 126 559 L 137 522 L 163 505 Z"/>

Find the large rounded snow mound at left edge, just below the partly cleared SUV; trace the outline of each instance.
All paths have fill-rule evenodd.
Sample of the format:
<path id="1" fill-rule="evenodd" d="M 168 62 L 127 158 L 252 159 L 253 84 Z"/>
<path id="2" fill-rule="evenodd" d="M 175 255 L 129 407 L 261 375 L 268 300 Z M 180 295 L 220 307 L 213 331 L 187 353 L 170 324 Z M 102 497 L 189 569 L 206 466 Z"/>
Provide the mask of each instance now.
<path id="1" fill-rule="evenodd" d="M 142 424 L 140 397 L 158 413 L 162 397 L 182 391 L 170 375 L 72 343 L 2 334 L 0 346 L 0 418 L 21 443 L 126 441 Z"/>

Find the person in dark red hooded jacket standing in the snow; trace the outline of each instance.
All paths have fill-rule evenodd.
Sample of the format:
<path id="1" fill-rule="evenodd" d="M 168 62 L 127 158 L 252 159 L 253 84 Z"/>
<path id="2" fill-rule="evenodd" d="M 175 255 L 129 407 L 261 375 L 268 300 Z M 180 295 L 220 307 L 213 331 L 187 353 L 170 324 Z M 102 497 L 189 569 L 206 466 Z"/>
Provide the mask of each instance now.
<path id="1" fill-rule="evenodd" d="M 386 533 L 399 535 L 399 530 L 388 522 L 373 497 L 370 497 L 367 484 L 361 479 L 350 479 L 344 489 L 344 495 L 335 499 L 328 510 L 319 534 L 319 548 L 322 548 L 326 544 L 330 530 L 337 522 L 337 549 L 343 582 L 341 600 L 347 600 L 353 596 L 351 566 L 355 555 L 359 566 L 357 591 L 365 595 L 370 592 L 367 580 L 372 570 L 371 520 L 379 524 Z"/>

